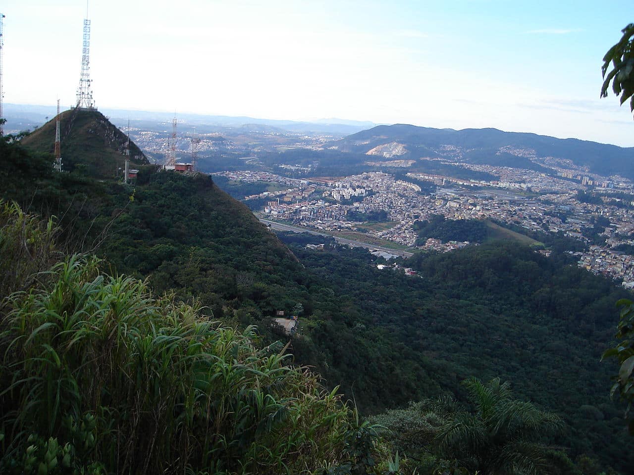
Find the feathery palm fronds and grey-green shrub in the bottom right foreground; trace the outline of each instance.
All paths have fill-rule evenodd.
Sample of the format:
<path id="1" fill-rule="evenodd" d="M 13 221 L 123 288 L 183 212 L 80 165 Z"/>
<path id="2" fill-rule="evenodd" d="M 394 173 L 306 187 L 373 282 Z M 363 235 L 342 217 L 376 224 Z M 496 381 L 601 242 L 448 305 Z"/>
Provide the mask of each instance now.
<path id="1" fill-rule="evenodd" d="M 412 403 L 372 418 L 422 473 L 454 467 L 484 475 L 578 474 L 565 453 L 543 441 L 563 424 L 555 414 L 515 399 L 508 383 L 463 381 L 469 407 L 451 396 Z"/>

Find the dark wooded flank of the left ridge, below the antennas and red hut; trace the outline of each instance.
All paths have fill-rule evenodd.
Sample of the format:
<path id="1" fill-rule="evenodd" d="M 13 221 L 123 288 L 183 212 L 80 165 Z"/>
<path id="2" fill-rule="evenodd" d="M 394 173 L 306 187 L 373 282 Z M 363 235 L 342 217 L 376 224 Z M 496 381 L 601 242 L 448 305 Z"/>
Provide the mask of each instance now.
<path id="1" fill-rule="evenodd" d="M 4 145 L 7 178 L 20 186 L 2 189 L 0 198 L 58 217 L 68 248 L 106 257 L 117 272 L 148 277 L 159 293 L 199 298 L 217 318 L 239 314 L 243 324 L 266 326 L 263 317 L 308 300 L 301 264 L 209 176 L 148 165 L 131 187 L 97 181 L 81 168 L 58 174 L 52 158 L 46 165 L 46 157 L 29 155 L 20 144 Z"/>

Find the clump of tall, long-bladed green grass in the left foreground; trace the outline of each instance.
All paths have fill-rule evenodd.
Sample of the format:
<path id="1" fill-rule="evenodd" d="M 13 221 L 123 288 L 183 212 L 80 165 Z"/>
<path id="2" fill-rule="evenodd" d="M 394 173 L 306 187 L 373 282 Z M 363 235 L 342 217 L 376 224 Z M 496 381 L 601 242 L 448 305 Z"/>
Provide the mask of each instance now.
<path id="1" fill-rule="evenodd" d="M 258 349 L 254 329 L 201 319 L 99 265 L 69 257 L 48 286 L 11 297 L 8 453 L 32 433 L 74 443 L 89 417 L 94 448 L 72 455 L 108 472 L 300 473 L 341 456 L 347 409 L 316 376 Z"/>

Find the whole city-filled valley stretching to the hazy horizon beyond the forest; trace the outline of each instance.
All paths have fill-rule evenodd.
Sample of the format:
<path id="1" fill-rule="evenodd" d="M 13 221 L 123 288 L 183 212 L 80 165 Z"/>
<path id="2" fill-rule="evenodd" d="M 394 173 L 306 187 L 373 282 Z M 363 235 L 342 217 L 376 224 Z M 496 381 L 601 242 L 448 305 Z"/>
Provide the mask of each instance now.
<path id="1" fill-rule="evenodd" d="M 570 153 L 571 158 L 540 156 L 529 147 L 487 144 L 486 159 L 474 163 L 477 160 L 470 160 L 474 149 L 441 144 L 426 148 L 435 156 L 417 155 L 420 143 L 382 136 L 394 127 L 418 129 L 406 125 L 372 135 L 385 126 L 365 130 L 367 124 L 242 124 L 237 118 L 222 122 L 191 116 L 179 118 L 176 134 L 167 117 L 134 120 L 132 127 L 121 116 L 112 120 L 129 130 L 153 162 L 164 163 L 169 150 L 175 149 L 180 162 L 196 162 L 197 172 L 212 175 L 221 188 L 245 201 L 260 219 L 276 223 L 277 229 L 285 225 L 295 231 L 329 234 L 389 257 L 386 249 L 408 256 L 417 249 L 443 252 L 475 244 L 421 239 L 416 222 L 439 215 L 448 220 L 482 220 L 501 237 L 510 233 L 544 255 L 550 250 L 540 245 L 543 233 L 574 240 L 577 245 L 567 252 L 579 267 L 634 288 L 631 177 L 597 174 L 592 167 L 576 163 Z M 176 118 L 173 123 L 176 127 Z M 425 133 L 429 130 L 439 129 Z M 359 138 L 359 134 L 365 135 Z M 375 146 L 377 137 L 384 140 Z M 603 160 L 600 151 L 592 153 Z M 499 157 L 507 160 L 504 166 L 483 163 Z M 249 184 L 253 186 L 245 186 Z M 233 193 L 234 188 L 250 192 Z"/>

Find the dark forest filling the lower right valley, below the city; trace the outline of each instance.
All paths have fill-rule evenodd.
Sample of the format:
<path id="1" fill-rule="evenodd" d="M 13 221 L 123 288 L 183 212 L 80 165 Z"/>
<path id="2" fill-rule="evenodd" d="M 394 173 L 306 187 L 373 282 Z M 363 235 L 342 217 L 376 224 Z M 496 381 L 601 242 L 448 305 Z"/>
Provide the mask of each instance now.
<path id="1" fill-rule="evenodd" d="M 324 312 L 304 322 L 295 354 L 323 355 L 325 367 L 315 356 L 314 364 L 366 410 L 461 396 L 465 377 L 500 376 L 517 395 L 564 415 L 559 443 L 572 455 L 631 466 L 621 443 L 634 441 L 608 394 L 617 368 L 599 362 L 618 321 L 614 304 L 630 293 L 516 243 L 417 255 L 407 263 L 415 277 L 378 270 L 360 250 L 292 250 L 346 309 L 343 318 Z"/>

